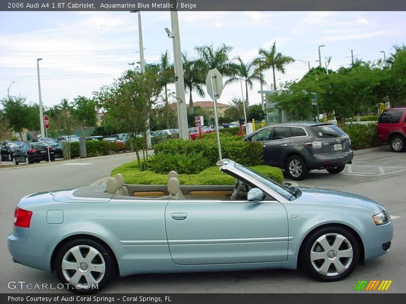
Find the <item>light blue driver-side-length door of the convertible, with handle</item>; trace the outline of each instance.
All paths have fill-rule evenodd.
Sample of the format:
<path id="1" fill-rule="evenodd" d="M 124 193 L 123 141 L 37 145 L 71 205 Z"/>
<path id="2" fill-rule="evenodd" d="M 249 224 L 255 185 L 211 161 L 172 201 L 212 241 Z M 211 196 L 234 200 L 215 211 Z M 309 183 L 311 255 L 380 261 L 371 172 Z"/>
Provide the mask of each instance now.
<path id="1" fill-rule="evenodd" d="M 165 225 L 177 264 L 287 259 L 287 214 L 277 201 L 171 200 Z"/>

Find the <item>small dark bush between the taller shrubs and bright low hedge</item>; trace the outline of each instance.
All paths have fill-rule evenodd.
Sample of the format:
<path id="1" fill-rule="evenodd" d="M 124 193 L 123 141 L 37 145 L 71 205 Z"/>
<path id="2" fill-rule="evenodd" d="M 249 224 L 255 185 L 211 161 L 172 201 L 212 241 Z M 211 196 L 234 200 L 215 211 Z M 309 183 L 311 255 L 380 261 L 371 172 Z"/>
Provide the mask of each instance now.
<path id="1" fill-rule="evenodd" d="M 165 154 L 158 153 L 148 159 L 148 167 L 156 173 L 167 173 L 172 170 L 178 173 L 193 174 L 210 167 L 210 161 L 198 154 Z"/>

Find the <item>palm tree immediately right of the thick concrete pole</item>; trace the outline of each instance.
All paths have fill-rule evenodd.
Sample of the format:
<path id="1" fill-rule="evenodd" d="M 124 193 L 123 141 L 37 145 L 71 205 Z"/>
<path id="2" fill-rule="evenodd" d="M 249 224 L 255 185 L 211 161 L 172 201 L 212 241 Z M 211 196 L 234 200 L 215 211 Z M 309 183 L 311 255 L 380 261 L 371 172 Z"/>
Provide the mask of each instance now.
<path id="1" fill-rule="evenodd" d="M 202 70 L 205 69 L 205 63 L 201 59 L 189 59 L 187 54 L 182 54 L 183 59 L 183 78 L 185 82 L 185 90 L 189 91 L 189 110 L 194 113 L 192 92 L 195 91 L 200 97 L 205 97 L 205 91 L 202 84 L 205 83 Z"/>

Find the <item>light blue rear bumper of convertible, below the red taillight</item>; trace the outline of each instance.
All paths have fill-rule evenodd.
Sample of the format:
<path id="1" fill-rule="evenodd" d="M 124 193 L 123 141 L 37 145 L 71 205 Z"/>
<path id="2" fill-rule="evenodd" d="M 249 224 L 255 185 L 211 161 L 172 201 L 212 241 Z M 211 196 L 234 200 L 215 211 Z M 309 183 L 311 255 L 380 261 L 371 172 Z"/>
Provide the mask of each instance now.
<path id="1" fill-rule="evenodd" d="M 51 272 L 53 245 L 31 241 L 29 237 L 26 237 L 27 234 L 9 235 L 8 247 L 13 260 L 28 267 Z"/>

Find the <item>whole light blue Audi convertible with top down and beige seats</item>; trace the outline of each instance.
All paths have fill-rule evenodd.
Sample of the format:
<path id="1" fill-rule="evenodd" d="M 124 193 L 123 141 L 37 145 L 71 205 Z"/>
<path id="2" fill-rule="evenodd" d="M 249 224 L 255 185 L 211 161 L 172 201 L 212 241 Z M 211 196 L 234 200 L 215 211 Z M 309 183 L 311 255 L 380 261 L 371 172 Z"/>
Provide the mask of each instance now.
<path id="1" fill-rule="evenodd" d="M 230 160 L 235 185 L 106 184 L 23 198 L 8 237 L 14 261 L 54 271 L 78 293 L 115 273 L 296 269 L 321 281 L 347 277 L 389 250 L 387 211 L 364 197 L 287 187 Z"/>

